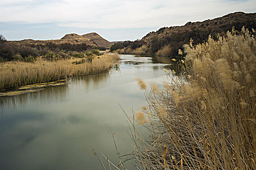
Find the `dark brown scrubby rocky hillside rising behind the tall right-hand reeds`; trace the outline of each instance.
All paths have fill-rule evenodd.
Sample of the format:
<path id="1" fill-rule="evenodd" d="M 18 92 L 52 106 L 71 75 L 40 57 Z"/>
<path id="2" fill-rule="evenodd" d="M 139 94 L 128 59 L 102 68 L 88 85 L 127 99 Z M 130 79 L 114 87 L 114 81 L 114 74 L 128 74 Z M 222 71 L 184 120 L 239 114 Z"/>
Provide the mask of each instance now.
<path id="1" fill-rule="evenodd" d="M 203 22 L 188 22 L 184 26 L 163 27 L 157 32 L 151 32 L 141 39 L 145 45 L 155 45 L 155 53 L 164 46 L 169 46 L 169 55 L 177 55 L 177 50 L 184 44 L 189 43 L 190 38 L 194 44 L 202 43 L 208 39 L 209 34 L 214 38 L 218 35 L 224 35 L 232 27 L 240 31 L 243 26 L 252 30 L 256 29 L 256 13 L 236 12 L 215 19 L 208 19 Z M 153 42 L 154 41 L 154 42 Z M 157 43 L 152 44 L 152 43 Z"/>

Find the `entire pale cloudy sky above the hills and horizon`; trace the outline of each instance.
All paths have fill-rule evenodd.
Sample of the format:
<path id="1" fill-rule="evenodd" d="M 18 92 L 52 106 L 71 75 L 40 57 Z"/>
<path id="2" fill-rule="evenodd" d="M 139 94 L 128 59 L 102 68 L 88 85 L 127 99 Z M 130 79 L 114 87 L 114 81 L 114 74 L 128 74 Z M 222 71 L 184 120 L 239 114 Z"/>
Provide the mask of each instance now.
<path id="1" fill-rule="evenodd" d="M 256 0 L 0 0 L 0 34 L 46 40 L 96 32 L 108 41 L 136 40 L 238 11 L 256 12 Z"/>

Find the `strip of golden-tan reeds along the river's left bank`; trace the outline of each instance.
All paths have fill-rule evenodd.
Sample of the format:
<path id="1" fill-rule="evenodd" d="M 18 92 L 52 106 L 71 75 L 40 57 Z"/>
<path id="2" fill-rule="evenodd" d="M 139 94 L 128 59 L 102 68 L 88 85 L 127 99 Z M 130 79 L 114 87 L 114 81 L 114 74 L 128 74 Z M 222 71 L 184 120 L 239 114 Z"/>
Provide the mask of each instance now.
<path id="1" fill-rule="evenodd" d="M 118 54 L 96 58 L 44 61 L 34 63 L 0 63 L 0 89 L 51 82 L 67 77 L 98 74 L 108 71 L 119 60 Z"/>

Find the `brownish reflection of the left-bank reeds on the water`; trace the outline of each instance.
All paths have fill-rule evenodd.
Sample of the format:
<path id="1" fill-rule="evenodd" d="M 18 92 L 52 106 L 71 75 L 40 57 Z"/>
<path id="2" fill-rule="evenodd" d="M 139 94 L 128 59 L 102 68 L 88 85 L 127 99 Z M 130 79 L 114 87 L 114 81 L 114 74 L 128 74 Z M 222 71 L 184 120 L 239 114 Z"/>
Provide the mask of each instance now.
<path id="1" fill-rule="evenodd" d="M 82 86 L 88 93 L 92 88 L 97 90 L 104 87 L 109 73 L 91 76 L 81 76 L 69 80 L 69 85 L 60 85 L 54 87 L 46 87 L 37 92 L 30 92 L 20 94 L 17 96 L 0 97 L 0 114 L 4 113 L 7 108 L 25 107 L 33 102 L 51 103 L 51 102 L 65 102 L 67 91 L 70 86 Z"/>

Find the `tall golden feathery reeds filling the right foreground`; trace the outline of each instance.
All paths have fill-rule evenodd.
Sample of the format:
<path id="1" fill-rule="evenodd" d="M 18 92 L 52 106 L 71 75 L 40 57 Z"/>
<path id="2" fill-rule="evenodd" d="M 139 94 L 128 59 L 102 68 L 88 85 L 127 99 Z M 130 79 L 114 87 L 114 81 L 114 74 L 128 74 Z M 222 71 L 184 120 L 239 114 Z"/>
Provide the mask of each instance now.
<path id="1" fill-rule="evenodd" d="M 138 169 L 256 170 L 254 35 L 233 30 L 185 52 L 187 78 L 146 89 L 149 105 L 135 114 L 150 122 L 146 134 L 133 124 Z"/>

